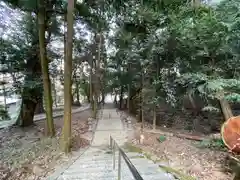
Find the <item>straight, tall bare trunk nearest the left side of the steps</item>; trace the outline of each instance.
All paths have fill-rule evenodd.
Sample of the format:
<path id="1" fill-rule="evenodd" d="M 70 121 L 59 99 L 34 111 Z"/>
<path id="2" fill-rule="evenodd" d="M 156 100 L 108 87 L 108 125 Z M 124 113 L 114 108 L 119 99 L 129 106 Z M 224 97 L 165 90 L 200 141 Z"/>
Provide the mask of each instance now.
<path id="1" fill-rule="evenodd" d="M 67 6 L 67 42 L 64 58 L 64 125 L 62 130 L 62 150 L 69 153 L 71 149 L 71 78 L 72 78 L 72 53 L 73 53 L 73 14 L 75 0 L 68 0 Z"/>

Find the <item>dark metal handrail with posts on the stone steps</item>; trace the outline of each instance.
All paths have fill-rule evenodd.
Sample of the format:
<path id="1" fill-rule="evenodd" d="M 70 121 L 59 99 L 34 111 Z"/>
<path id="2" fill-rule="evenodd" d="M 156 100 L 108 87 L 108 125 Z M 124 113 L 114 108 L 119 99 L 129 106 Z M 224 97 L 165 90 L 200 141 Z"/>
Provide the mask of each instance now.
<path id="1" fill-rule="evenodd" d="M 113 153 L 113 169 L 115 169 L 115 151 L 118 150 L 118 180 L 121 180 L 121 157 L 124 159 L 125 163 L 127 164 L 130 172 L 132 173 L 135 180 L 143 180 L 142 176 L 139 174 L 136 167 L 132 164 L 130 159 L 127 157 L 126 153 L 122 150 L 122 148 L 119 147 L 119 145 L 116 143 L 116 141 L 110 136 L 110 148 Z"/>

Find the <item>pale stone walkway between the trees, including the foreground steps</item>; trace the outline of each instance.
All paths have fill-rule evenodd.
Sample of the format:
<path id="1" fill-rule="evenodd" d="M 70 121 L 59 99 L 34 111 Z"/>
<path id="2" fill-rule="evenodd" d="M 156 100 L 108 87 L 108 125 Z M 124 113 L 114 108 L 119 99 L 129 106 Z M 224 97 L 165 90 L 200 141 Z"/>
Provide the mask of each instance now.
<path id="1" fill-rule="evenodd" d="M 110 135 L 123 146 L 127 141 L 127 129 L 124 128 L 116 109 L 105 106 L 99 113 L 99 121 L 91 146 L 69 167 L 62 169 L 58 175 L 48 180 L 116 180 L 118 167 L 118 151 L 116 152 L 116 168 L 113 170 L 112 153 L 109 150 Z M 152 161 L 136 152 L 126 152 L 143 179 L 173 180 L 173 176 L 163 172 Z M 124 160 L 121 161 L 121 179 L 134 180 Z"/>

